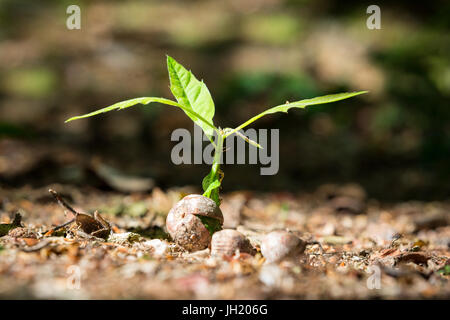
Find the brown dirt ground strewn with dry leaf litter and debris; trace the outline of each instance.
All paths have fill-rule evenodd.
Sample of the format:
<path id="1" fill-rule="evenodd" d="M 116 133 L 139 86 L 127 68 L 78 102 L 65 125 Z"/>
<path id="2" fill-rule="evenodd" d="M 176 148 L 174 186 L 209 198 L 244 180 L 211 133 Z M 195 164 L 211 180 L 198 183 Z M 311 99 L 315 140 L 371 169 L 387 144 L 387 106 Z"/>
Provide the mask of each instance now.
<path id="1" fill-rule="evenodd" d="M 77 211 L 99 210 L 106 241 L 81 236 L 48 188 Z M 214 258 L 170 241 L 165 217 L 185 187 L 123 195 L 70 185 L 0 189 L 0 298 L 56 299 L 448 299 L 449 202 L 379 203 L 358 185 L 310 194 L 223 195 L 225 228 L 257 249 Z M 7 230 L 13 214 L 21 227 Z M 259 246 L 288 229 L 310 244 L 294 261 L 267 264 Z"/>

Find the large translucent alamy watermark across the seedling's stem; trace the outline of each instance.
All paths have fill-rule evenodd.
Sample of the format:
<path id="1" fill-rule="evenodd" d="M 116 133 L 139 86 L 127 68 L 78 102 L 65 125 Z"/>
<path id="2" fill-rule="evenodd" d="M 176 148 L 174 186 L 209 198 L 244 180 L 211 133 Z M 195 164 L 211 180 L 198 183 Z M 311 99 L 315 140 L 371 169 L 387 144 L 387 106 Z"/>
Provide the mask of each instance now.
<path id="1" fill-rule="evenodd" d="M 258 143 L 261 148 L 247 143 L 244 138 Z M 209 139 L 199 126 L 194 125 L 193 136 L 187 129 L 176 129 L 171 140 L 178 142 L 171 152 L 175 165 L 213 163 L 214 146 L 209 143 L 204 147 L 204 142 Z M 261 164 L 261 175 L 275 175 L 280 166 L 279 147 L 279 129 L 240 130 L 226 139 L 220 164 Z"/>

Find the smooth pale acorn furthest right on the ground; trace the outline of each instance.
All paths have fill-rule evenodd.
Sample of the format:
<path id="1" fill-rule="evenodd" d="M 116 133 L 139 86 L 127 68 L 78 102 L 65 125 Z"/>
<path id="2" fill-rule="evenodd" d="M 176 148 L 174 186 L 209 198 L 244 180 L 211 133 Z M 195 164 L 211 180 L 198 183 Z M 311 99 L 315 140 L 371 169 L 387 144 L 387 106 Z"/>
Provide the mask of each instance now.
<path id="1" fill-rule="evenodd" d="M 305 251 L 306 242 L 287 231 L 272 231 L 261 242 L 267 263 L 296 258 Z"/>

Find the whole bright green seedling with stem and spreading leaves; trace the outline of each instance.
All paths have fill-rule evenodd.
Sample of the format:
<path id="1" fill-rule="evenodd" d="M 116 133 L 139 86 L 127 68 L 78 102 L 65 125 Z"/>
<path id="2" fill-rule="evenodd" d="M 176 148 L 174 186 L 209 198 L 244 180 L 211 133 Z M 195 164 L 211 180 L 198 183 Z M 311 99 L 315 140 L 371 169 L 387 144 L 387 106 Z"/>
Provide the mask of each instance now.
<path id="1" fill-rule="evenodd" d="M 189 118 L 191 118 L 192 121 L 194 121 L 198 126 L 200 126 L 200 128 L 202 128 L 203 132 L 215 148 L 212 168 L 208 175 L 203 179 L 202 187 L 204 191 L 203 195 L 214 200 L 217 205 L 220 205 L 219 187 L 222 183 L 223 178 L 223 173 L 222 171 L 220 171 L 220 159 L 223 152 L 223 143 L 225 139 L 236 133 L 237 136 L 241 137 L 248 143 L 261 148 L 258 143 L 242 135 L 239 130 L 247 127 L 254 121 L 268 114 L 277 112 L 287 113 L 291 108 L 305 108 L 311 105 L 335 102 L 367 92 L 345 92 L 316 97 L 312 99 L 304 99 L 296 102 L 287 102 L 285 104 L 267 109 L 266 111 L 254 116 L 253 118 L 247 120 L 234 129 L 222 129 L 220 127 L 216 127 L 213 123 L 215 112 L 214 102 L 208 88 L 206 87 L 206 84 L 203 81 L 197 80 L 197 78 L 191 71 L 188 71 L 181 64 L 176 62 L 175 59 L 169 56 L 167 56 L 167 68 L 170 78 L 170 90 L 172 91 L 172 94 L 174 95 L 176 101 L 158 97 L 134 98 L 118 102 L 116 104 L 113 104 L 112 106 L 82 116 L 70 118 L 66 122 L 82 118 L 89 118 L 100 113 L 105 113 L 113 110 L 123 110 L 138 104 L 147 105 L 151 102 L 158 102 L 182 109 L 189 116 Z M 216 134 L 216 136 L 214 136 L 214 134 Z"/>

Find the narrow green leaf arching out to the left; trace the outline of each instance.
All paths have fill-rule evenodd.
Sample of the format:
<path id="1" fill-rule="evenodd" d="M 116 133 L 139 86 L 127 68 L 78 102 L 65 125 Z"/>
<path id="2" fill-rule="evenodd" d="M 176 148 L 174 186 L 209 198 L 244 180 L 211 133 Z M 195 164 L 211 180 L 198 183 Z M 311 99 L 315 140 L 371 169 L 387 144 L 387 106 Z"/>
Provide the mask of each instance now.
<path id="1" fill-rule="evenodd" d="M 77 116 L 77 117 L 72 117 L 68 120 L 66 120 L 65 122 L 70 122 L 73 120 L 78 120 L 78 119 L 83 119 L 83 118 L 89 118 L 92 116 L 96 116 L 98 114 L 101 113 L 105 113 L 105 112 L 109 112 L 109 111 L 113 111 L 113 110 L 123 110 L 132 106 L 135 106 L 137 104 L 149 104 L 151 102 L 158 102 L 158 103 L 162 103 L 162 104 L 167 104 L 169 106 L 174 106 L 174 107 L 178 107 L 184 110 L 184 112 L 186 112 L 189 117 L 195 117 L 196 119 L 198 119 L 199 122 L 203 123 L 203 125 L 205 126 L 210 126 L 211 130 L 215 130 L 215 127 L 210 124 L 208 121 L 206 121 L 201 115 L 197 114 L 195 111 L 190 110 L 190 109 L 186 109 L 185 107 L 183 107 L 181 104 L 179 104 L 176 101 L 172 101 L 169 99 L 165 99 L 165 98 L 156 98 L 156 97 L 141 97 L 141 98 L 134 98 L 134 99 L 130 99 L 130 100 L 125 100 L 125 101 L 121 101 L 121 102 L 117 102 L 115 104 L 113 104 L 112 106 L 88 113 L 88 114 L 84 114 L 82 116 Z"/>

